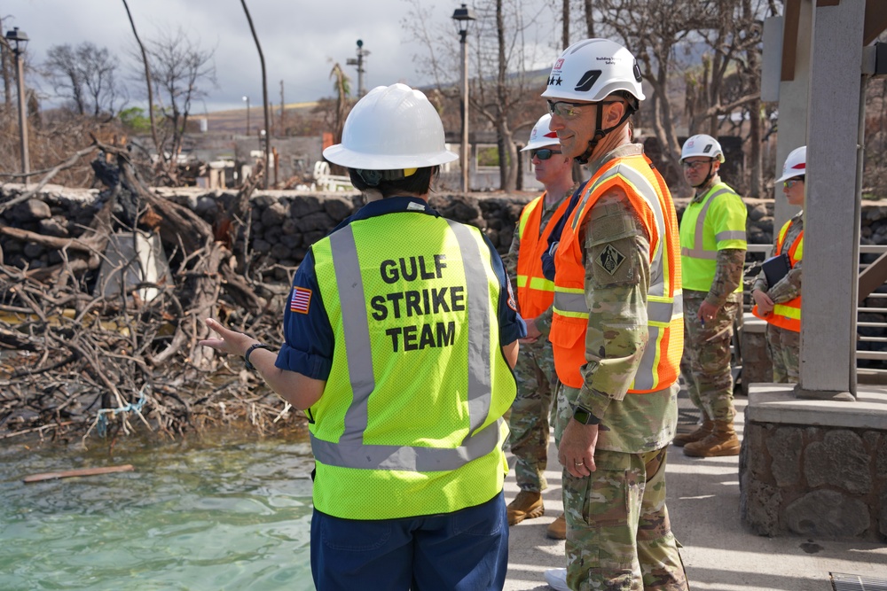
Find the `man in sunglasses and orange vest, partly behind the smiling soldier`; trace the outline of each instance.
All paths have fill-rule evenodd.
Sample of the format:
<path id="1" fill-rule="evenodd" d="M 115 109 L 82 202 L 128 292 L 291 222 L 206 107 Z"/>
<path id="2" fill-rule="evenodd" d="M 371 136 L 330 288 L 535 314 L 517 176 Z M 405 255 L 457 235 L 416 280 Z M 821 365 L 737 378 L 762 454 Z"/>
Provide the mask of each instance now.
<path id="1" fill-rule="evenodd" d="M 504 261 L 508 276 L 517 277 L 517 302 L 526 323 L 551 306 L 554 285 L 542 275 L 541 253 L 548 234 L 566 208 L 573 193 L 573 159 L 563 156 L 557 135 L 548 127 L 551 115 L 543 115 L 530 132 L 522 152 L 530 152 L 536 180 L 545 192 L 524 207 L 511 248 Z M 555 219 L 553 219 L 555 218 Z M 551 224 L 551 226 L 550 226 Z M 508 504 L 508 525 L 545 514 L 542 491 L 546 489 L 548 462 L 548 415 L 551 409 L 554 361 L 547 338 L 523 341 L 514 367 L 517 396 L 508 418 L 509 444 L 517 459 L 514 475 L 520 492 Z M 563 539 L 562 517 L 549 525 L 548 535 Z"/>

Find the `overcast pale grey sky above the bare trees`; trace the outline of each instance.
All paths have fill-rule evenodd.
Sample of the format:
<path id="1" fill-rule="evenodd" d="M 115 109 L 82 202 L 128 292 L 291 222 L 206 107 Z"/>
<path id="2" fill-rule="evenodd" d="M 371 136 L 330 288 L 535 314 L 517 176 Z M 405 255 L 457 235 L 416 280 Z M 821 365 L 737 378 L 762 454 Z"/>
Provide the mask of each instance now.
<path id="1" fill-rule="evenodd" d="M 460 2 L 420 2 L 428 20 L 443 23 L 452 34 L 453 46 L 458 47 L 450 17 Z M 242 107 L 244 95 L 251 105 L 261 104 L 259 58 L 239 0 L 129 0 L 129 4 L 143 42 L 157 38 L 159 31 L 175 35 L 182 27 L 202 49 L 215 48 L 219 88 L 211 89 L 205 106 L 196 106 L 193 112 Z M 539 11 L 548 3 L 528 0 L 526 4 L 532 5 L 528 10 Z M 407 0 L 247 0 L 247 6 L 262 43 L 269 101 L 274 104 L 280 101 L 281 80 L 287 103 L 333 96 L 329 74 L 334 61 L 344 67 L 357 92 L 357 68 L 345 65 L 346 59 L 356 57 L 357 39 L 370 51 L 365 58 L 366 89 L 394 82 L 412 86 L 428 82 L 415 66 L 416 56 L 426 50 L 403 25 L 410 11 Z M 30 37 L 27 52 L 36 65 L 52 45 L 91 41 L 116 53 L 127 74 L 132 72 L 127 51 L 136 45 L 120 0 L 0 0 L 0 16 L 4 32 L 20 27 Z M 540 22 L 533 29 L 532 35 L 555 38 L 551 23 Z M 550 52 L 553 61 L 557 51 Z M 51 92 L 45 83 L 41 88 Z M 130 98 L 130 104 L 142 102 L 141 96 Z"/>

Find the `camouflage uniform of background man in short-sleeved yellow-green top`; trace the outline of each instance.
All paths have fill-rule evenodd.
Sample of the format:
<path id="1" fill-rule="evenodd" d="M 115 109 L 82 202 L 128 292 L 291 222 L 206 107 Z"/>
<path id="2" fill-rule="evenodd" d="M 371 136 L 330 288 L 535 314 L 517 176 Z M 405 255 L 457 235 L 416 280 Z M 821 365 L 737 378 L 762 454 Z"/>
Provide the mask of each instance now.
<path id="1" fill-rule="evenodd" d="M 720 177 L 714 175 L 703 187 L 696 189 L 691 203 L 700 202 Z M 725 198 L 722 195 L 720 198 Z M 730 342 L 734 323 L 742 320 L 742 284 L 745 250 L 718 250 L 715 278 L 708 292 L 684 288 L 684 358 L 681 372 L 690 400 L 705 416 L 714 421 L 732 422 L 736 416 L 733 405 L 733 372 L 730 369 Z M 718 314 L 709 322 L 699 320 L 703 301 L 718 307 Z"/>

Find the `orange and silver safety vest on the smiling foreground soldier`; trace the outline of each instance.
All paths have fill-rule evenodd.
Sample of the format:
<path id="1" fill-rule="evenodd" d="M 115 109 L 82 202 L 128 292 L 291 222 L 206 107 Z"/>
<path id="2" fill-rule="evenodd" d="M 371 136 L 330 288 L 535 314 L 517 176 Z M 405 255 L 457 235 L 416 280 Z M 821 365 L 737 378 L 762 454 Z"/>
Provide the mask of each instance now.
<path id="1" fill-rule="evenodd" d="M 570 214 L 554 258 L 554 309 L 550 340 L 561 382 L 583 385 L 585 365 L 585 266 L 579 233 L 597 200 L 614 188 L 628 196 L 650 237 L 647 294 L 649 340 L 629 393 L 652 393 L 678 381 L 684 345 L 678 218 L 662 175 L 643 154 L 610 160 L 586 185 Z"/>

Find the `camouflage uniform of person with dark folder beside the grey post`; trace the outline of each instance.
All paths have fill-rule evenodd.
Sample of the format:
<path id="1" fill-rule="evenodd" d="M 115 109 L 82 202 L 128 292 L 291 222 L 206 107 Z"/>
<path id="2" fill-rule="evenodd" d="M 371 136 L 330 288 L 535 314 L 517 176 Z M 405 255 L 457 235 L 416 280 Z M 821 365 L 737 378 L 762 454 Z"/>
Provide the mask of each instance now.
<path id="1" fill-rule="evenodd" d="M 791 245 L 795 244 L 797 236 L 804 231 L 804 212 L 797 213 L 790 220 L 789 229 L 786 230 L 785 239 L 782 241 L 782 252 L 773 254 L 788 254 Z M 775 251 L 779 235 L 773 237 L 773 249 Z M 788 275 L 772 287 L 767 285 L 764 271 L 757 276 L 751 291 L 761 290 L 765 292 L 773 303 L 781 304 L 801 295 L 801 262 L 796 261 Z M 801 333 L 794 330 L 783 329 L 771 323 L 767 323 L 767 345 L 770 348 L 770 357 L 773 360 L 773 382 L 797 384 L 799 357 L 801 353 Z"/>

